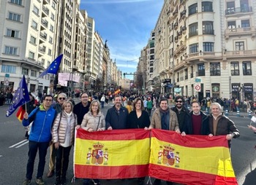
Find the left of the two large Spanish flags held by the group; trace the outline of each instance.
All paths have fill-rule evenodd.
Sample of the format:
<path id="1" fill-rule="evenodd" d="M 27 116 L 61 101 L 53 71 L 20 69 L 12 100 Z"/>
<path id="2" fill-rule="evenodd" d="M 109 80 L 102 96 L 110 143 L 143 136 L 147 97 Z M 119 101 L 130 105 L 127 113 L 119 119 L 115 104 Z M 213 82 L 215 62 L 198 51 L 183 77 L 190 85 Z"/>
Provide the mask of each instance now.
<path id="1" fill-rule="evenodd" d="M 148 176 L 149 130 L 78 129 L 74 173 L 77 178 L 137 178 Z"/>

